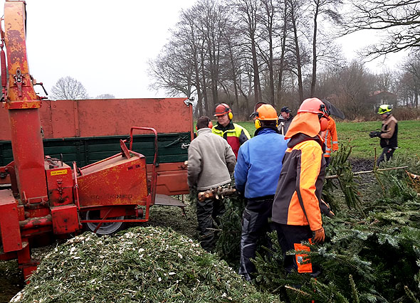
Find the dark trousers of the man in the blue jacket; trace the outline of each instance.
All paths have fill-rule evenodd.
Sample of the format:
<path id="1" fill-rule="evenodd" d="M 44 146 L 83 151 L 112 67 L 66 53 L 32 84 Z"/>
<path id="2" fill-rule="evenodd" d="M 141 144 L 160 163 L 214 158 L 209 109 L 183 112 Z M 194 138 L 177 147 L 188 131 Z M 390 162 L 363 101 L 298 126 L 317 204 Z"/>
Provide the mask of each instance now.
<path id="1" fill-rule="evenodd" d="M 261 201 L 253 200 L 252 202 L 251 206 L 248 201 L 248 206 L 242 213 L 241 260 L 238 270 L 238 274 L 243 275 L 247 281 L 251 281 L 252 274 L 256 272 L 256 266 L 251 259 L 256 257 L 257 241 L 268 240 L 266 239 L 267 233 L 274 230 L 269 222 L 273 198 L 261 199 Z"/>

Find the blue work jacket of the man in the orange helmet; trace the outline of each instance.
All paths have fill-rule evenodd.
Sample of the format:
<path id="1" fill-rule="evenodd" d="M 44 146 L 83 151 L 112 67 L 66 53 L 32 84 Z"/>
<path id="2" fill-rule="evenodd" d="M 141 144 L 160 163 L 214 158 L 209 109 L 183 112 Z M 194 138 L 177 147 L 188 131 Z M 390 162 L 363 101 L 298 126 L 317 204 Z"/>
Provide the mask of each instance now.
<path id="1" fill-rule="evenodd" d="M 274 195 L 287 142 L 277 129 L 263 128 L 241 145 L 234 176 L 245 198 Z"/>

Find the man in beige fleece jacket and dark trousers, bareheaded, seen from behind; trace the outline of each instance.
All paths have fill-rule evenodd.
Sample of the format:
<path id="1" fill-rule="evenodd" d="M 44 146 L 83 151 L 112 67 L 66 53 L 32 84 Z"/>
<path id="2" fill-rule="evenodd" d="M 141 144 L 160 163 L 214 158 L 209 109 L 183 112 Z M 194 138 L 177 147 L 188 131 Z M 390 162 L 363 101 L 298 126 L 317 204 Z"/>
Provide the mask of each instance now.
<path id="1" fill-rule="evenodd" d="M 231 146 L 223 137 L 213 134 L 211 127 L 209 117 L 200 117 L 197 137 L 188 148 L 188 185 L 197 191 L 230 184 L 235 169 L 236 156 Z M 225 211 L 224 201 L 217 198 L 199 201 L 197 197 L 196 206 L 201 247 L 211 251 L 216 244 L 213 222 L 219 223 L 219 216 Z"/>

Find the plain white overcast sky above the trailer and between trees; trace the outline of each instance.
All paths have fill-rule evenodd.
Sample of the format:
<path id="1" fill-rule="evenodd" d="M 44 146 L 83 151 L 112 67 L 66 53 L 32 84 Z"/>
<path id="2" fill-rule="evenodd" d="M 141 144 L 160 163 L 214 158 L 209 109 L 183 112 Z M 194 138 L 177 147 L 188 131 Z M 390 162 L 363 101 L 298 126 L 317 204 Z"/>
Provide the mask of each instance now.
<path id="1" fill-rule="evenodd" d="M 47 92 L 59 78 L 70 76 L 85 86 L 90 97 L 165 97 L 164 92 L 148 89 L 147 60 L 167 42 L 179 11 L 195 2 L 26 0 L 30 72 Z M 371 38 L 372 33 L 342 38 L 347 59 Z M 399 57 L 392 56 L 387 65 L 393 67 Z M 368 66 L 384 68 L 379 60 Z M 36 91 L 44 95 L 41 87 Z"/>

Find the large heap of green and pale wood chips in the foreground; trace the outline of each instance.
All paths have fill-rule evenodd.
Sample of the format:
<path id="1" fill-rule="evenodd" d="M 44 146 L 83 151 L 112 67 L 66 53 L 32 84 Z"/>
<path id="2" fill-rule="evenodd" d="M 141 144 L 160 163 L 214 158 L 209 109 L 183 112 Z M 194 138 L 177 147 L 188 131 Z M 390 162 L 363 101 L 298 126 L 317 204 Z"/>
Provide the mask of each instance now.
<path id="1" fill-rule="evenodd" d="M 169 228 L 84 233 L 52 250 L 11 302 L 280 302 Z"/>

